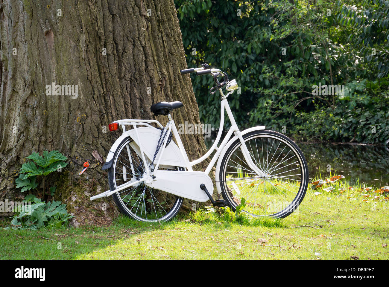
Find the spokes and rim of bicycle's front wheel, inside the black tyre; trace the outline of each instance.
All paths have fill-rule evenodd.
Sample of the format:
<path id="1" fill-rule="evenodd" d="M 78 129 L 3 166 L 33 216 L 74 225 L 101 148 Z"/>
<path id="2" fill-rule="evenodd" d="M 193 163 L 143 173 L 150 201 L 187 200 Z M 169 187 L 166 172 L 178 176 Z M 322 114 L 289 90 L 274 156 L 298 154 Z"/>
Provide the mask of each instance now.
<path id="1" fill-rule="evenodd" d="M 303 177 L 298 154 L 294 147 L 278 137 L 252 137 L 245 139 L 245 144 L 252 162 L 265 172 L 265 177 L 251 170 L 238 143 L 224 165 L 223 184 L 228 186 L 230 197 L 236 204 L 240 198 L 245 198 L 244 211 L 251 215 L 283 212 L 301 193 Z"/>

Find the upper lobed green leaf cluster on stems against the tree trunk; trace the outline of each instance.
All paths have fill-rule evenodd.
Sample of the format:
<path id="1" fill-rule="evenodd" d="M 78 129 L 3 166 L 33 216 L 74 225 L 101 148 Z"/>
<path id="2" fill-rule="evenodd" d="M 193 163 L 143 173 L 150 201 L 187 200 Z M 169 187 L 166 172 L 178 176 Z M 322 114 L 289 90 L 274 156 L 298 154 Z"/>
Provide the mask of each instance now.
<path id="1" fill-rule="evenodd" d="M 33 152 L 27 159 L 31 159 L 31 161 L 23 163 L 19 178 L 15 180 L 16 187 L 21 187 L 21 192 L 35 189 L 39 193 L 37 187 L 41 183 L 43 185 L 43 197 L 49 194 L 53 195 L 55 187 L 50 187 L 49 192 L 46 191 L 46 176 L 57 170 L 61 171 L 62 168 L 67 166 L 68 163 L 65 162 L 67 157 L 59 151 L 44 151 L 42 156 L 37 152 Z M 37 177 L 39 177 L 39 182 L 37 182 Z"/>

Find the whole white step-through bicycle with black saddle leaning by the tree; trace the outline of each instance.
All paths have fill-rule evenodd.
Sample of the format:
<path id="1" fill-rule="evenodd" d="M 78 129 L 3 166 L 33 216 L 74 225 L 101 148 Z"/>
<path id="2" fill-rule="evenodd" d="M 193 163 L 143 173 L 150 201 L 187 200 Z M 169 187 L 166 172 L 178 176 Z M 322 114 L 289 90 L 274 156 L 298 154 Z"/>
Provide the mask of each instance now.
<path id="1" fill-rule="evenodd" d="M 110 190 L 91 200 L 113 195 L 117 207 L 138 221 L 168 221 L 177 215 L 183 198 L 214 206 L 229 205 L 232 210 L 246 199 L 244 212 L 252 216 L 283 218 L 301 203 L 308 186 L 307 161 L 298 146 L 285 135 L 256 126 L 240 131 L 227 97 L 238 88 L 235 80 L 219 69 L 203 64 L 181 70 L 181 74 L 213 75 L 216 83 L 210 94 L 221 96 L 220 127 L 217 138 L 201 158 L 189 161 L 170 112 L 180 108 L 179 101 L 151 106 L 154 115 L 167 115 L 164 127 L 156 120 L 123 119 L 109 125 L 121 126 L 123 134 L 112 145 L 103 170 L 108 171 Z M 223 93 L 223 87 L 228 91 Z M 224 110 L 231 128 L 220 141 Z M 131 129 L 126 130 L 126 126 Z M 231 136 L 234 136 L 231 138 Z M 175 142 L 172 140 L 175 138 Z M 193 171 L 216 150 L 205 172 Z M 213 200 L 214 185 L 209 172 L 216 163 L 216 189 L 224 200 Z"/>

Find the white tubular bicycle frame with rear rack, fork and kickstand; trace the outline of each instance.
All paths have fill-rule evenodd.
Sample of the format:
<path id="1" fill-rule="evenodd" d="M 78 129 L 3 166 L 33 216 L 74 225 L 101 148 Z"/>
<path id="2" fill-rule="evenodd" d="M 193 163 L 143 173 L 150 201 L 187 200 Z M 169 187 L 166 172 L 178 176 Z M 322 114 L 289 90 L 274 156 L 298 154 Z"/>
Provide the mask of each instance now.
<path id="1" fill-rule="evenodd" d="M 259 177 L 265 177 L 265 173 L 260 168 L 258 168 L 258 166 L 256 164 L 254 164 L 254 162 L 252 161 L 249 150 L 247 149 L 247 147 L 245 145 L 242 134 L 241 134 L 236 122 L 235 122 L 235 118 L 233 117 L 230 106 L 228 104 L 227 97 L 229 94 L 233 93 L 233 91 L 230 91 L 228 94 L 224 95 L 223 90 L 221 88 L 219 88 L 219 92 L 221 94 L 221 116 L 220 116 L 219 132 L 217 133 L 216 140 L 215 140 L 214 144 L 212 145 L 212 147 L 201 158 L 198 158 L 194 161 L 189 161 L 189 158 L 188 158 L 187 153 L 185 151 L 184 145 L 182 144 L 179 132 L 177 131 L 174 120 L 172 119 L 170 114 L 168 114 L 169 121 L 166 124 L 166 128 L 167 128 L 166 135 L 170 134 L 170 132 L 172 131 L 174 138 L 177 142 L 177 146 L 179 148 L 179 151 L 182 155 L 182 158 L 185 161 L 185 167 L 189 172 L 193 172 L 193 168 L 192 168 L 193 166 L 195 166 L 198 163 L 201 163 L 202 161 L 207 159 L 210 156 L 210 154 L 212 154 L 212 152 L 216 150 L 216 153 L 212 157 L 209 165 L 207 166 L 207 168 L 205 169 L 205 172 L 204 172 L 208 176 L 209 172 L 212 169 L 212 166 L 215 165 L 215 163 L 216 163 L 217 159 L 219 158 L 221 152 L 223 151 L 224 147 L 226 147 L 226 145 L 228 144 L 228 142 L 231 138 L 231 135 L 234 133 L 235 136 L 237 136 L 239 138 L 240 142 L 242 143 L 241 149 L 242 149 L 242 154 L 244 155 L 244 159 L 245 159 L 246 163 L 252 168 L 253 171 L 255 171 L 258 174 Z M 221 142 L 220 146 L 217 147 L 217 144 L 219 144 L 219 141 L 221 139 L 221 131 L 223 130 L 223 127 L 224 127 L 224 110 L 226 110 L 228 118 L 230 119 L 231 127 L 228 130 L 223 141 Z M 138 139 L 139 139 L 139 135 L 138 135 L 138 131 L 137 131 L 137 125 L 152 127 L 150 124 L 155 123 L 159 127 L 161 127 L 161 128 L 163 127 L 156 120 L 125 119 L 125 120 L 115 121 L 114 123 L 118 123 L 121 125 L 121 127 L 123 129 L 123 134 L 126 132 L 126 128 L 125 128 L 126 125 L 133 126 L 133 129 L 135 130 L 135 134 L 138 137 Z M 145 176 L 142 179 L 136 180 L 136 181 L 131 180 L 130 182 L 128 182 L 126 184 L 118 186 L 117 189 L 115 189 L 114 191 L 109 190 L 109 191 L 106 191 L 104 193 L 101 193 L 101 194 L 98 194 L 96 196 L 91 197 L 91 200 L 94 200 L 96 198 L 102 198 L 105 196 L 110 196 L 110 195 L 116 193 L 117 191 L 121 191 L 122 189 L 128 188 L 128 187 L 133 186 L 135 184 L 139 184 L 140 182 L 145 182 L 146 184 L 151 183 L 153 181 L 154 172 L 156 172 L 158 170 L 163 152 L 165 151 L 165 148 L 166 148 L 167 141 L 168 141 L 168 137 L 166 137 L 165 140 L 163 141 L 163 145 L 161 148 L 161 156 L 159 156 L 159 159 L 158 159 L 154 169 L 152 170 L 150 168 L 150 166 L 145 165 L 145 167 L 144 167 L 145 168 L 145 170 L 144 170 Z M 140 149 L 140 156 L 141 156 L 142 160 L 146 163 L 146 161 L 145 161 L 146 157 L 145 157 L 144 151 L 142 149 L 142 144 L 139 144 L 139 149 Z M 129 158 L 131 161 L 131 157 L 129 157 Z M 131 165 L 131 169 L 133 171 L 132 161 L 130 162 L 130 165 Z"/>

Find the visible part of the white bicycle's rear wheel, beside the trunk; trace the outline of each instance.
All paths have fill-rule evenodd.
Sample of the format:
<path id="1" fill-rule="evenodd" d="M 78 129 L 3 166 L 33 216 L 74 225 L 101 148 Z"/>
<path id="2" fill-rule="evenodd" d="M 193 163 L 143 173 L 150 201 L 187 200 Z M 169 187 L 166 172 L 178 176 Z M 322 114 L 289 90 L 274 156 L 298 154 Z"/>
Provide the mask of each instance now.
<path id="1" fill-rule="evenodd" d="M 149 165 L 149 162 L 144 163 L 131 147 L 132 142 L 132 138 L 125 138 L 115 152 L 112 166 L 108 169 L 110 190 L 141 179 L 144 166 Z M 158 169 L 182 170 L 173 166 Z M 181 197 L 148 187 L 144 182 L 118 191 L 112 196 L 122 213 L 144 222 L 168 221 L 177 215 L 182 205 Z"/>

